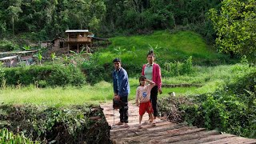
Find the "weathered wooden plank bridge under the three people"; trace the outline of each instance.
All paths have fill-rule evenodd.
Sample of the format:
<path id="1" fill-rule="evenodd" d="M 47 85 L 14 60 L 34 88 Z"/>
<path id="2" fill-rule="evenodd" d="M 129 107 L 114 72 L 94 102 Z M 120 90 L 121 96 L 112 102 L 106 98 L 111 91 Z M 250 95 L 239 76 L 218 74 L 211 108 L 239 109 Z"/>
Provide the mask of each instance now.
<path id="1" fill-rule="evenodd" d="M 233 134 L 221 134 L 216 130 L 206 130 L 186 123 L 171 123 L 166 118 L 158 119 L 156 126 L 145 123 L 138 129 L 138 107 L 129 103 L 129 127 L 115 126 L 119 122 L 118 110 L 113 110 L 111 103 L 101 104 L 106 121 L 112 126 L 110 139 L 114 143 L 175 143 L 175 144 L 222 144 L 256 143 L 256 139 L 242 138 Z M 148 120 L 144 114 L 142 122 Z"/>

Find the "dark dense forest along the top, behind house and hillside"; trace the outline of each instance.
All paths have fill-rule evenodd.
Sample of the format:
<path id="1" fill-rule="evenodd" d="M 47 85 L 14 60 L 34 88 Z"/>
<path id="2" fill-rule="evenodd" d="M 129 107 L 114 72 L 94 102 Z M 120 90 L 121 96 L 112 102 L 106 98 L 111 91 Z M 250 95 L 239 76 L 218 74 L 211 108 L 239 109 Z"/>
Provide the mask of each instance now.
<path id="1" fill-rule="evenodd" d="M 180 27 L 197 30 L 213 41 L 205 14 L 218 4 L 210 0 L 1 1 L 0 37 L 19 34 L 30 40 L 47 40 L 63 36 L 67 29 L 113 36 Z"/>

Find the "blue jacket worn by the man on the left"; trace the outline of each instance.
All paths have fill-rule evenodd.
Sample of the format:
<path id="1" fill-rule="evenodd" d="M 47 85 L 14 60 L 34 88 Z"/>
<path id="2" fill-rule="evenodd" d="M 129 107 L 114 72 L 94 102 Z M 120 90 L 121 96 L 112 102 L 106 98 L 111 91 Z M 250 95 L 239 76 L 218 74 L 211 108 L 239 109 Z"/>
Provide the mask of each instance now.
<path id="1" fill-rule="evenodd" d="M 118 82 L 116 78 L 116 73 L 118 73 Z M 122 67 L 118 71 L 114 70 L 112 73 L 112 77 L 113 77 L 114 93 L 118 94 L 120 97 L 128 96 L 128 94 L 130 94 L 130 86 L 129 86 L 128 74 L 126 70 L 124 70 Z M 118 91 L 118 83 L 119 83 L 119 91 Z"/>

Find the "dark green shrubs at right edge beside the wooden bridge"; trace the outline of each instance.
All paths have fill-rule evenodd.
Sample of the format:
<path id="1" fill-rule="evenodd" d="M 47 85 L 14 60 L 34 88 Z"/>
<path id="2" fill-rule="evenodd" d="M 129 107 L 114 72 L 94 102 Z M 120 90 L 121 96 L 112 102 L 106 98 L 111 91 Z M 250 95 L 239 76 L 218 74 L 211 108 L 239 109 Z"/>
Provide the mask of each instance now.
<path id="1" fill-rule="evenodd" d="M 185 120 L 210 130 L 218 129 L 256 138 L 256 73 L 246 74 L 234 81 L 213 94 L 193 97 L 199 108 L 191 113 L 190 109 L 193 109 L 193 106 L 182 107 L 182 110 L 185 110 Z"/>

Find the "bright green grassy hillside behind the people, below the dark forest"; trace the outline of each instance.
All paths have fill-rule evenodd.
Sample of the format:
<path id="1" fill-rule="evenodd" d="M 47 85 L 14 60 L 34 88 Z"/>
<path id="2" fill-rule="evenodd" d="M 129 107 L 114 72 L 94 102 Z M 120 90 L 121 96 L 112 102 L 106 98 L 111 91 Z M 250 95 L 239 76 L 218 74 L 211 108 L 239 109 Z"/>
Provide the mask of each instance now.
<path id="1" fill-rule="evenodd" d="M 142 65 L 146 62 L 146 54 L 154 49 L 157 61 L 182 61 L 190 56 L 195 64 L 211 65 L 229 61 L 229 57 L 218 54 L 206 45 L 203 38 L 191 31 L 156 31 L 149 35 L 110 38 L 112 42 L 106 49 L 99 50 L 100 64 L 110 62 L 115 57 L 122 58 L 124 63 Z"/>

